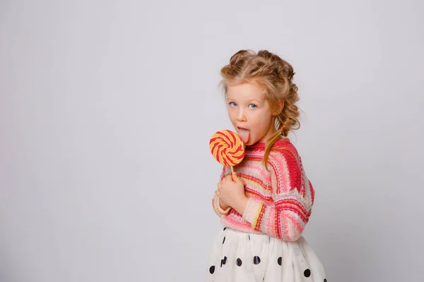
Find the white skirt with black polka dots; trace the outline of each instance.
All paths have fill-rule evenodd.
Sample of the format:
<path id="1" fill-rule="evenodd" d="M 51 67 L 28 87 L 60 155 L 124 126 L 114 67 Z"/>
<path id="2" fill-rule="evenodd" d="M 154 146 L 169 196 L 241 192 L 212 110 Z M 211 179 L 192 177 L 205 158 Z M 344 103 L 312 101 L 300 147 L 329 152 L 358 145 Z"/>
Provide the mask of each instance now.
<path id="1" fill-rule="evenodd" d="M 303 237 L 288 242 L 223 228 L 213 241 L 206 281 L 326 282 L 326 276 Z"/>

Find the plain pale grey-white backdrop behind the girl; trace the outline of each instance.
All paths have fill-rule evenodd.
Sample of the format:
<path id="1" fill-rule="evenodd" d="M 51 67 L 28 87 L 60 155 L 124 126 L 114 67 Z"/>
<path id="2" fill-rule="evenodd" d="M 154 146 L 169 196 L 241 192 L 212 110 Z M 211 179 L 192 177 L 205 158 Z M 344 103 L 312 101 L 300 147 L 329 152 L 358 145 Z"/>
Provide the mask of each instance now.
<path id="1" fill-rule="evenodd" d="M 0 281 L 202 281 L 239 49 L 292 63 L 331 281 L 423 281 L 422 1 L 0 1 Z M 421 51 L 420 51 L 421 50 Z"/>

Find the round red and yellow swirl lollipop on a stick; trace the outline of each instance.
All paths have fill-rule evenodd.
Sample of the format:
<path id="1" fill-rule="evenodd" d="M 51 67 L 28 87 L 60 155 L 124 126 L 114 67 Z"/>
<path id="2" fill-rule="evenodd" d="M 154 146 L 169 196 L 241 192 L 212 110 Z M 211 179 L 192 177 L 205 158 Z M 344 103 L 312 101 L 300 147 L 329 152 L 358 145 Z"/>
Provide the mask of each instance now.
<path id="1" fill-rule="evenodd" d="M 245 157 L 245 144 L 237 133 L 231 130 L 220 130 L 212 135 L 209 141 L 209 149 L 213 157 L 224 166 L 232 166 L 240 164 Z"/>

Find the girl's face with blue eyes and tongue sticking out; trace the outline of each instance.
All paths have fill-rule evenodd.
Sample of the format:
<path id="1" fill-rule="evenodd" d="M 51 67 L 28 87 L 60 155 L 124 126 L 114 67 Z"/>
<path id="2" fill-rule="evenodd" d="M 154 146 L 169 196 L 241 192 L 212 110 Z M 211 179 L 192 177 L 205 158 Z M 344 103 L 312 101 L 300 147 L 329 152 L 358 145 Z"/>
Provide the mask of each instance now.
<path id="1" fill-rule="evenodd" d="M 275 116 L 266 99 L 265 88 L 257 83 L 227 88 L 228 116 L 245 145 L 265 142 L 274 132 Z"/>

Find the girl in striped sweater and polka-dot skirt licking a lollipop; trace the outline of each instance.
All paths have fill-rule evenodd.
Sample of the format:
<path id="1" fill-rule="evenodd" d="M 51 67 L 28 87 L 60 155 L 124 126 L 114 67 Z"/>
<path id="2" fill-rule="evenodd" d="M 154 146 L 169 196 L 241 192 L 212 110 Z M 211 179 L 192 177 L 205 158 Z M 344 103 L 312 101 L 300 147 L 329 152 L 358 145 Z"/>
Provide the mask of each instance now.
<path id="1" fill-rule="evenodd" d="M 224 166 L 213 197 L 224 228 L 206 281 L 326 282 L 302 237 L 314 189 L 287 138 L 300 126 L 292 66 L 269 51 L 241 50 L 220 73 L 228 116 L 246 147 L 235 173 Z"/>

